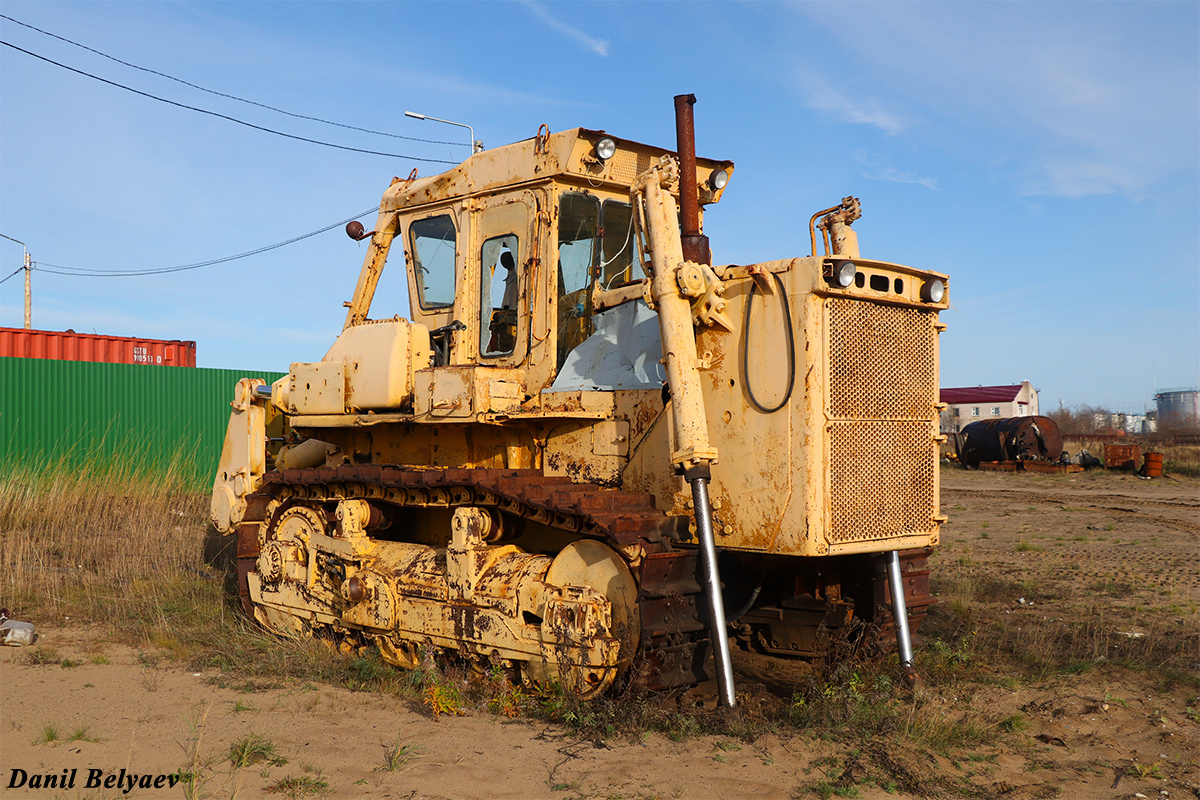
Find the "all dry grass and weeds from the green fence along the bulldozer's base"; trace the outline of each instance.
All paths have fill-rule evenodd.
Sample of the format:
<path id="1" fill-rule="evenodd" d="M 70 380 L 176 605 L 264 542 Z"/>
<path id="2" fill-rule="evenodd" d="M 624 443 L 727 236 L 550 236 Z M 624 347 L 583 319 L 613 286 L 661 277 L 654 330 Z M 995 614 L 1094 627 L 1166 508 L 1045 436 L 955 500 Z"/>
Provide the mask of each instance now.
<path id="1" fill-rule="evenodd" d="M 926 621 L 925 646 L 918 650 L 920 692 L 896 680 L 894 656 L 852 655 L 815 666 L 786 690 L 745 692 L 736 720 L 686 696 L 647 694 L 634 686 L 583 703 L 560 686 L 514 685 L 503 670 L 479 674 L 430 658 L 402 673 L 373 652 L 344 657 L 319 642 L 263 632 L 236 608 L 232 540 L 208 525 L 206 495 L 182 487 L 170 473 L 145 476 L 119 468 L 0 477 L 0 604 L 35 622 L 100 622 L 112 638 L 221 670 L 216 682 L 246 691 L 319 681 L 403 697 L 425 714 L 469 710 L 552 721 L 592 739 L 637 739 L 655 730 L 676 740 L 698 734 L 749 740 L 803 732 L 859 748 L 836 776 L 847 786 L 878 775 L 928 795 L 954 787 L 917 770 L 928 762 L 923 751 L 989 746 L 1018 735 L 1020 720 L 972 703 L 997 681 L 1105 668 L 1099 664 L 1178 668 L 1194 652 L 1187 637 L 1120 637 L 1100 612 L 1021 625 L 1002 607 L 1028 595 L 1028 587 L 991 576 L 944 576 L 937 594 L 949 602 Z M 42 656 L 61 661 L 58 654 Z M 871 745 L 883 740 L 895 747 Z M 896 752 L 910 751 L 911 758 L 896 760 Z M 392 763 L 408 754 L 397 742 Z M 318 783 L 281 783 L 276 790 L 301 796 L 319 792 Z"/>

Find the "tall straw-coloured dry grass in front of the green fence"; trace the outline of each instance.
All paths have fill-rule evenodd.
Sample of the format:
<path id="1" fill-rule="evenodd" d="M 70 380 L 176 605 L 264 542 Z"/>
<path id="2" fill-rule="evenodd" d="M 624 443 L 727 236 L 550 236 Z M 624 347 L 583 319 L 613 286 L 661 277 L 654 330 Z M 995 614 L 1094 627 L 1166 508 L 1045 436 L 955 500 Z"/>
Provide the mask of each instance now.
<path id="1" fill-rule="evenodd" d="M 4 475 L 5 604 L 32 621 L 133 624 L 148 638 L 169 634 L 180 614 L 220 614 L 222 576 L 205 561 L 208 503 L 184 487 L 179 469 Z"/>

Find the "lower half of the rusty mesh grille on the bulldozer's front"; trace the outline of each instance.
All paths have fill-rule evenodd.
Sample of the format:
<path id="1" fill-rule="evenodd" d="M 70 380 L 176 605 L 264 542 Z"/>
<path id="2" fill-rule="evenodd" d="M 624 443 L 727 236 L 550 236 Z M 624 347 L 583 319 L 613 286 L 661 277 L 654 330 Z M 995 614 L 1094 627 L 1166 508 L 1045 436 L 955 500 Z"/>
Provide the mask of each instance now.
<path id="1" fill-rule="evenodd" d="M 937 453 L 929 421 L 832 427 L 830 543 L 931 534 Z"/>

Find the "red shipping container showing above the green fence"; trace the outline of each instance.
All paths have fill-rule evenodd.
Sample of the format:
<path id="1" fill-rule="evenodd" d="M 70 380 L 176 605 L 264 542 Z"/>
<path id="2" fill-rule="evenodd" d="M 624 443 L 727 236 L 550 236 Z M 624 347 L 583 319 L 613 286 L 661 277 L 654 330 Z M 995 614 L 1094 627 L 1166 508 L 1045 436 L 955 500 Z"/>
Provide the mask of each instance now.
<path id="1" fill-rule="evenodd" d="M 196 342 L 0 327 L 0 357 L 194 367 Z"/>

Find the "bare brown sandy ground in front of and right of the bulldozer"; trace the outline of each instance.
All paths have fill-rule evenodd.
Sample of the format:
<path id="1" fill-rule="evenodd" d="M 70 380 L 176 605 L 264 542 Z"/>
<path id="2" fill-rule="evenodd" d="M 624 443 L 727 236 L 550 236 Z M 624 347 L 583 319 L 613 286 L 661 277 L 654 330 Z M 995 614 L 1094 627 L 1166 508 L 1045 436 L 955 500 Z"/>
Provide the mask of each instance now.
<path id="1" fill-rule="evenodd" d="M 950 523 L 935 569 L 980 585 L 998 581 L 1008 594 L 1020 594 L 990 596 L 997 613 L 1037 628 L 1102 604 L 1111 646 L 1136 634 L 1195 642 L 1200 482 L 944 470 L 942 509 Z M 948 614 L 949 606 L 943 597 L 937 613 Z M 313 684 L 245 691 L 245 681 L 216 673 L 146 666 L 144 656 L 108 643 L 101 631 L 41 633 L 41 644 L 82 663 L 30 666 L 22 649 L 0 651 L 5 799 L 182 798 L 182 786 L 145 788 L 143 776 L 152 781 L 194 766 L 204 776 L 198 796 L 214 798 L 287 796 L 268 789 L 293 777 L 324 781 L 330 798 L 769 800 L 821 796 L 816 782 L 856 769 L 845 746 L 803 732 L 752 742 L 676 742 L 658 734 L 596 742 L 486 712 L 433 720 L 404 700 Z M 1194 676 L 1200 663 L 1189 666 Z M 739 656 L 743 684 L 766 691 L 746 678 L 752 667 Z M 802 672 L 784 663 L 773 682 L 786 686 Z M 1098 668 L 985 685 L 961 700 L 940 702 L 947 715 L 961 714 L 962 704 L 996 718 L 1019 714 L 1024 727 L 973 751 L 869 742 L 912 778 L 910 786 L 942 787 L 925 796 L 959 786 L 980 798 L 1200 798 L 1200 702 L 1187 680 Z M 44 741 L 47 727 L 56 733 L 52 742 Z M 229 745 L 251 734 L 265 736 L 287 763 L 234 769 Z M 408 746 L 407 757 L 397 769 L 380 769 L 397 742 Z M 30 776 L 24 786 L 12 787 L 16 770 Z M 101 770 L 92 774 L 98 788 L 86 787 L 89 770 Z M 44 784 L 48 775 L 73 775 L 74 786 L 30 788 L 34 776 Z M 126 792 L 132 775 L 138 786 Z M 859 783 L 840 796 L 917 795 Z"/>

